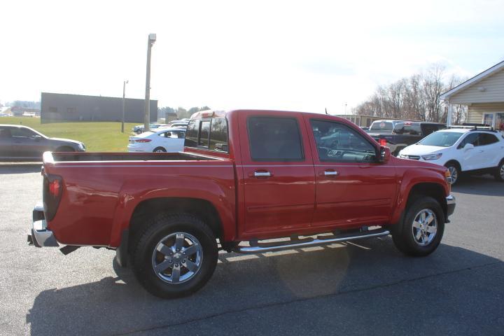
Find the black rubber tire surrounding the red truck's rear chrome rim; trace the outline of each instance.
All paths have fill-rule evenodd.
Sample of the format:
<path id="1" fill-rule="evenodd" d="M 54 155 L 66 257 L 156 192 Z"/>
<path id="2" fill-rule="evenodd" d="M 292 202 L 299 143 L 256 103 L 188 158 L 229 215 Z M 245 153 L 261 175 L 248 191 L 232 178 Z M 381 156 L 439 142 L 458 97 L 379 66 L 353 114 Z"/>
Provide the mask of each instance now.
<path id="1" fill-rule="evenodd" d="M 149 293 L 162 298 L 183 297 L 195 293 L 202 288 L 202 286 L 209 281 L 211 275 L 214 274 L 217 265 L 218 248 L 214 232 L 212 232 L 199 218 L 190 214 L 160 214 L 156 218 L 153 218 L 151 223 L 148 224 L 150 225 L 148 225 L 144 233 L 139 235 L 137 241 L 133 242 L 134 246 L 132 246 L 133 248 L 131 250 L 132 268 L 142 286 L 144 286 Z M 179 254 L 181 258 L 186 258 L 181 256 L 181 253 L 175 253 L 163 259 L 163 255 L 159 255 L 159 253 L 161 253 L 159 250 L 155 252 L 156 246 L 158 246 L 164 238 L 170 235 L 176 235 L 177 233 L 183 233 L 186 235 L 185 239 L 189 241 L 191 241 L 190 239 L 196 239 L 202 250 L 199 268 L 193 275 L 184 281 L 182 281 L 183 276 L 186 276 L 190 272 L 190 269 L 186 267 L 185 260 L 181 261 L 179 264 L 172 264 L 172 266 L 170 266 L 172 268 L 167 267 L 165 271 L 162 271 L 165 273 L 162 274 L 156 272 L 154 268 L 157 262 L 156 260 L 158 260 L 159 257 L 160 261 L 156 264 L 156 267 L 159 267 L 162 262 L 172 262 L 172 259 L 167 258 L 173 258 L 175 262 L 175 259 L 179 258 L 176 257 L 176 254 Z M 188 241 L 185 239 L 185 244 L 188 244 Z M 193 262 L 197 263 L 197 260 L 193 258 Z M 172 282 L 173 279 L 172 281 L 168 280 L 169 277 L 174 278 L 174 265 L 177 265 L 177 267 L 180 265 L 180 269 L 182 269 L 179 271 L 181 282 L 174 283 Z M 183 268 L 187 271 L 185 275 L 183 275 Z M 170 272 L 172 274 L 169 274 Z M 162 279 L 162 276 L 166 279 Z"/>

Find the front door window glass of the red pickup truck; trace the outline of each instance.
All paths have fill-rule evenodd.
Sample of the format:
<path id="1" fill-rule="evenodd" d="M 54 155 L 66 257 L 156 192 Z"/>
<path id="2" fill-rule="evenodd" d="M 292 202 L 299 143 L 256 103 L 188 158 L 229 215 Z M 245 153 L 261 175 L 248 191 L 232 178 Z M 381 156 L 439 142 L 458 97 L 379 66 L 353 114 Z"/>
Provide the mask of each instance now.
<path id="1" fill-rule="evenodd" d="M 329 162 L 374 162 L 376 148 L 350 127 L 326 120 L 310 120 L 318 159 Z"/>

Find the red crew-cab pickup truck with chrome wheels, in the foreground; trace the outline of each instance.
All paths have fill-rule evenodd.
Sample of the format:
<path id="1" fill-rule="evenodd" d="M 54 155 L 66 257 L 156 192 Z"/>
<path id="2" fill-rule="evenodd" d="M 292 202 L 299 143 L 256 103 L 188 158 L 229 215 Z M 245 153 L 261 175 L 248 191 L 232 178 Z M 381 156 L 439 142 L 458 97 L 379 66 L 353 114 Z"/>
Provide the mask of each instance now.
<path id="1" fill-rule="evenodd" d="M 183 153 L 46 152 L 43 160 L 29 244 L 115 249 L 119 265 L 129 260 L 160 297 L 201 288 L 219 249 L 391 235 L 403 253 L 428 255 L 455 208 L 445 167 L 393 158 L 353 123 L 315 113 L 203 111 L 190 120 Z"/>

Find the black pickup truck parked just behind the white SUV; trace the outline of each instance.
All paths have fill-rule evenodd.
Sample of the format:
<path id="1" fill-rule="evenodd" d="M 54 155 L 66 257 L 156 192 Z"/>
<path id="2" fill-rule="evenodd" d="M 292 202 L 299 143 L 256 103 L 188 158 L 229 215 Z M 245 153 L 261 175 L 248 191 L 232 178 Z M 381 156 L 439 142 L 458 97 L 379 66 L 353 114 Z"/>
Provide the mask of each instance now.
<path id="1" fill-rule="evenodd" d="M 394 156 L 409 145 L 416 144 L 421 139 L 438 130 L 443 130 L 446 125 L 439 123 L 421 123 L 416 121 L 403 121 L 393 125 L 392 132 L 368 132 L 381 146 L 391 148 Z"/>

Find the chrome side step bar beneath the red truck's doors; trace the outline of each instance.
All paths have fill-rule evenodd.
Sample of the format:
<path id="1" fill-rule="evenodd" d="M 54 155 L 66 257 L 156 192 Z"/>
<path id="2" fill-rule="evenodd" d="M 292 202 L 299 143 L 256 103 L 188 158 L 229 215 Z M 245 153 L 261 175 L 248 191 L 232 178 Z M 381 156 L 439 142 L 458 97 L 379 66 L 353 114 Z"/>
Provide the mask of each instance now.
<path id="1" fill-rule="evenodd" d="M 252 244 L 251 242 L 251 246 L 236 246 L 233 251 L 236 253 L 253 254 L 253 253 L 288 250 L 290 248 L 332 244 L 340 241 L 351 241 L 355 239 L 382 237 L 387 235 L 390 235 L 390 232 L 388 230 L 379 229 L 379 230 L 358 232 L 351 235 L 341 235 L 341 236 L 332 235 L 332 236 L 325 236 L 325 237 L 323 236 L 307 239 L 290 239 L 290 241 L 279 241 L 278 243 L 272 242 L 272 243 Z"/>

